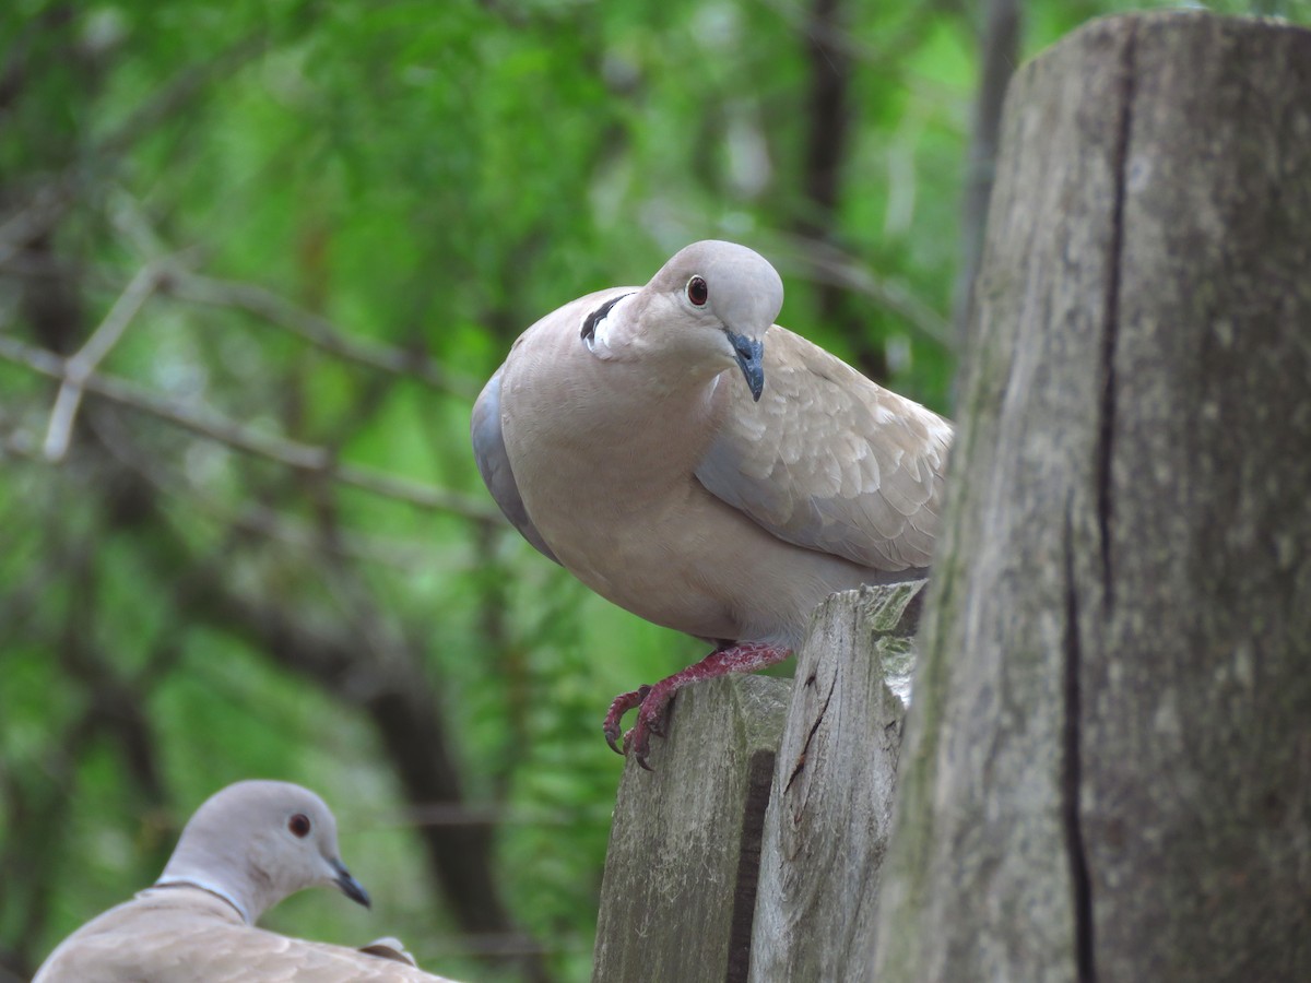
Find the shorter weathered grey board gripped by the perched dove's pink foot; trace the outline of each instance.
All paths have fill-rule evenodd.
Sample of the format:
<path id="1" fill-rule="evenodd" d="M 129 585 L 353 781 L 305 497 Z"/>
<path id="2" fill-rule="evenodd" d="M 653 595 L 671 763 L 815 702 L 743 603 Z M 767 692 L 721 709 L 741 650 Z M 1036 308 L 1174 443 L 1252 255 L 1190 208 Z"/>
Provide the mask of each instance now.
<path id="1" fill-rule="evenodd" d="M 595 983 L 745 980 L 760 830 L 792 682 L 679 691 L 669 739 L 629 758 L 600 885 Z"/>

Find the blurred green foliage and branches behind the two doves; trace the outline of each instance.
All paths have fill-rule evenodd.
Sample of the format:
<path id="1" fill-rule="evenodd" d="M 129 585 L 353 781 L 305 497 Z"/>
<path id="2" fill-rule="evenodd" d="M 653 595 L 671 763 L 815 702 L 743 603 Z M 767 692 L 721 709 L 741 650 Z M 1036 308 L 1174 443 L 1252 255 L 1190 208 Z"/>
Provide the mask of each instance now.
<path id="1" fill-rule="evenodd" d="M 1027 4 L 1024 47 L 1126 8 Z M 1311 20 L 1307 0 L 1261 10 Z M 58 384 L 0 351 L 0 980 L 148 883 L 190 810 L 248 776 L 320 790 L 378 902 L 308 895 L 270 925 L 397 935 L 452 976 L 587 978 L 620 771 L 600 716 L 700 646 L 488 519 L 468 409 L 536 317 L 712 236 L 776 261 L 784 324 L 947 409 L 975 14 L 812 17 L 788 0 L 0 10 L 0 342 L 72 354 L 153 263 L 97 371 L 166 401 L 88 393 L 52 463 Z M 842 134 L 814 132 L 825 66 L 844 72 Z M 826 204 L 808 161 L 830 140 Z M 304 467 L 313 448 L 456 498 L 363 490 Z M 450 755 L 459 801 L 414 801 L 382 737 L 393 678 L 440 721 L 444 746 L 412 752 Z M 522 940 L 476 935 L 433 873 L 425 835 L 446 827 L 425 823 L 469 814 L 538 976 L 479 955 Z"/>

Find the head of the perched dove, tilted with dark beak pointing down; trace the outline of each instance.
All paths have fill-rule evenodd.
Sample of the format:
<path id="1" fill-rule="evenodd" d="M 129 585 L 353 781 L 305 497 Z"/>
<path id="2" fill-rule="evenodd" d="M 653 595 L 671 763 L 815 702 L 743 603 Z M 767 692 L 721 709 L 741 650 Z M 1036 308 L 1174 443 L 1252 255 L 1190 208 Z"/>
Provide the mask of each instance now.
<path id="1" fill-rule="evenodd" d="M 642 292 L 663 349 L 711 375 L 735 364 L 760 398 L 764 333 L 783 307 L 783 280 L 763 256 L 734 242 L 694 242 Z"/>

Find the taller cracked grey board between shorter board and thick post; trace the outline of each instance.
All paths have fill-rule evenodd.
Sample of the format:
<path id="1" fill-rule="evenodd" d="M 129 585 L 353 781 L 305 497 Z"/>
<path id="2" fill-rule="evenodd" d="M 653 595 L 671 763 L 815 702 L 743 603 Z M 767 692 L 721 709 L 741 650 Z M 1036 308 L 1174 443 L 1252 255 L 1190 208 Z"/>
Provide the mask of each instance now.
<path id="1" fill-rule="evenodd" d="M 869 966 L 923 587 L 835 594 L 797 655 L 764 817 L 753 983 L 859 979 Z"/>

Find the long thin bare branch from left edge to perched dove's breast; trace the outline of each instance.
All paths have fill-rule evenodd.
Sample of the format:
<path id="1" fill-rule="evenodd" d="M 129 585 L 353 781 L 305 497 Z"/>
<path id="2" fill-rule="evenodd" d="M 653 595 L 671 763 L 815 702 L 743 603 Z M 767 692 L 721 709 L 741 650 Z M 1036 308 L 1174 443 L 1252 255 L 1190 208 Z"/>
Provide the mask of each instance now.
<path id="1" fill-rule="evenodd" d="M 34 372 L 59 381 L 68 379 L 67 364 L 59 355 L 25 345 L 7 334 L 0 334 L 0 358 L 26 366 Z M 126 379 L 92 372 L 81 380 L 81 384 L 87 392 L 296 471 L 321 474 L 342 485 L 395 498 L 421 509 L 452 512 L 476 522 L 499 520 L 499 512 L 477 499 L 358 464 L 342 464 L 321 447 L 261 434 L 216 413 L 201 412 L 178 400 L 147 392 Z"/>

